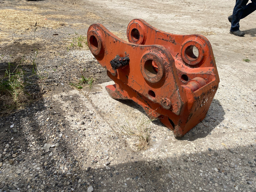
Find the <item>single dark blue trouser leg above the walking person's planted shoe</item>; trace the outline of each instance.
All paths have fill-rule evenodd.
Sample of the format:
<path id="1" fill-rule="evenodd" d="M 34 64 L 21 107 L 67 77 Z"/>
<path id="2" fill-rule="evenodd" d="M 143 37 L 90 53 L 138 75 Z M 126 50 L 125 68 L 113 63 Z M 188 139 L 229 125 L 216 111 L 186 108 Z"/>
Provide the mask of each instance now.
<path id="1" fill-rule="evenodd" d="M 243 10 L 246 7 L 246 4 L 249 0 L 237 0 L 236 5 L 233 10 L 232 15 L 232 22 L 230 32 L 238 31 L 239 30 L 239 21 L 242 17 Z"/>

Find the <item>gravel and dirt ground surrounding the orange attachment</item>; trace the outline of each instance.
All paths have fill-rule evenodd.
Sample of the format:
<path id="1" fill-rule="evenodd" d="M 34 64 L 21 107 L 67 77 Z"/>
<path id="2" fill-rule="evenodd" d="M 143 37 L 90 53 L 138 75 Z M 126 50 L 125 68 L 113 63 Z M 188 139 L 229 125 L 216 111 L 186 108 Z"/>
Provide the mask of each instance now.
<path id="1" fill-rule="evenodd" d="M 34 96 L 0 118 L 0 192 L 256 192 L 256 12 L 241 20 L 246 35 L 237 37 L 227 19 L 233 7 L 234 0 L 0 0 L 0 77 L 8 63 L 20 65 Z M 139 151 L 120 127 L 144 111 L 111 99 L 106 70 L 85 41 L 78 46 L 94 23 L 127 40 L 134 18 L 206 36 L 220 76 L 202 123 L 180 140 L 151 123 L 150 146 Z M 42 78 L 31 74 L 33 61 Z M 89 93 L 74 86 L 81 72 L 94 80 Z"/>

